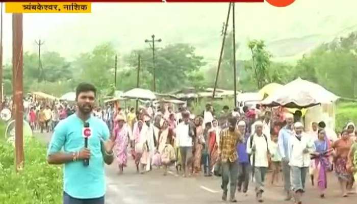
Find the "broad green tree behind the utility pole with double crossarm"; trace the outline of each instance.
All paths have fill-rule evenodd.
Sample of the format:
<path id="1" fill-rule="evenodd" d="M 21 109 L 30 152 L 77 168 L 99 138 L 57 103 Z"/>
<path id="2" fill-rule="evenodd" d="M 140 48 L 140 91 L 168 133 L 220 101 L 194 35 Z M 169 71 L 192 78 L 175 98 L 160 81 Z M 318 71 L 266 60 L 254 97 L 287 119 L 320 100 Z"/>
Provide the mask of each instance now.
<path id="1" fill-rule="evenodd" d="M 150 76 L 150 79 L 152 79 L 154 69 L 152 68 L 151 49 L 134 50 L 131 55 L 126 58 L 126 62 L 128 62 L 131 67 L 137 67 L 138 54 L 141 55 L 142 59 L 140 69 L 143 73 L 148 74 L 146 77 Z M 155 56 L 157 91 L 164 92 L 181 88 L 185 84 L 189 86 L 192 85 L 191 81 L 189 81 L 189 75 L 205 65 L 202 61 L 203 58 L 195 54 L 195 48 L 184 43 L 170 44 L 163 48 L 158 48 L 155 50 Z M 147 81 L 145 80 L 144 82 Z"/>

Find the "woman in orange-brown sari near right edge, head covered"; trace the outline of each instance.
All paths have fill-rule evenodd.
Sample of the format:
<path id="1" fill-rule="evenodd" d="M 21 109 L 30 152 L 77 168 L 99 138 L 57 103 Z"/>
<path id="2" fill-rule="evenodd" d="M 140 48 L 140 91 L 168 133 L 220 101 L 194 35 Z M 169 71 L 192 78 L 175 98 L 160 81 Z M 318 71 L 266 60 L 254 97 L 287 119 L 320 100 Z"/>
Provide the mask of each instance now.
<path id="1" fill-rule="evenodd" d="M 335 171 L 341 185 L 343 197 L 347 197 L 347 187 L 349 187 L 352 182 L 351 173 L 347 170 L 348 152 L 352 143 L 353 142 L 349 138 L 347 130 L 343 130 L 341 133 L 341 139 L 334 142 L 332 146 L 335 149 Z"/>

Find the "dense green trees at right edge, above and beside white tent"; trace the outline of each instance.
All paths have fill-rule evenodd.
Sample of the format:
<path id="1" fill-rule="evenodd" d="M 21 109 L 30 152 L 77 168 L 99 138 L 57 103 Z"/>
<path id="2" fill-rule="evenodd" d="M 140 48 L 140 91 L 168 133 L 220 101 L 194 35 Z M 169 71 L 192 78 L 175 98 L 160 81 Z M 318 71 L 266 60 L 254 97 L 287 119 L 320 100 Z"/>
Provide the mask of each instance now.
<path id="1" fill-rule="evenodd" d="M 320 45 L 298 61 L 296 73 L 340 96 L 355 97 L 357 84 L 357 34 Z"/>

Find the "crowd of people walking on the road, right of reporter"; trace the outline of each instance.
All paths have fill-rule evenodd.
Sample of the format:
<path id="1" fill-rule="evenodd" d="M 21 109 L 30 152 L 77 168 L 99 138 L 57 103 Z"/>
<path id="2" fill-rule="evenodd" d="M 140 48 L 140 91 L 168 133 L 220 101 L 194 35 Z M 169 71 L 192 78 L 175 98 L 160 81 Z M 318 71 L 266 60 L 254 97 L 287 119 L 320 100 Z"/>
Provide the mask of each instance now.
<path id="1" fill-rule="evenodd" d="M 352 191 L 357 175 L 352 122 L 337 133 L 316 121 L 307 132 L 298 111 L 260 106 L 230 111 L 225 106 L 215 114 L 210 104 L 197 116 L 183 107 L 177 112 L 172 107 L 156 111 L 147 104 L 136 114 L 134 108 L 127 115 L 119 110 L 113 118 L 110 129 L 120 173 L 132 156 L 139 173 L 163 166 L 167 175 L 172 166 L 183 177 L 215 174 L 222 177 L 223 200 L 227 200 L 228 184 L 229 199 L 236 202 L 236 191 L 246 194 L 253 177 L 257 200 L 263 202 L 268 171 L 272 172 L 271 184 L 278 182 L 282 171 L 285 200 L 293 198 L 295 203 L 302 203 L 308 175 L 321 198 L 329 171 L 335 171 L 343 197 Z"/>

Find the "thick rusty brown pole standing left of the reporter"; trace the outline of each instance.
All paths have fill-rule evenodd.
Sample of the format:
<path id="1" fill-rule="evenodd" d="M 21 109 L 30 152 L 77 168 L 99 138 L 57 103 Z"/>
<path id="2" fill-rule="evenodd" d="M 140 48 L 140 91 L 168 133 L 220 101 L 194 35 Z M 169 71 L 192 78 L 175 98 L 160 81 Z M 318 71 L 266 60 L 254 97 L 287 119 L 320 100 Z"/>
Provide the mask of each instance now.
<path id="1" fill-rule="evenodd" d="M 14 84 L 14 108 L 15 108 L 15 164 L 16 171 L 23 168 L 23 87 L 22 87 L 22 66 L 23 66 L 23 45 L 22 45 L 22 14 L 12 14 L 12 69 Z"/>

